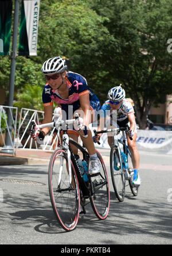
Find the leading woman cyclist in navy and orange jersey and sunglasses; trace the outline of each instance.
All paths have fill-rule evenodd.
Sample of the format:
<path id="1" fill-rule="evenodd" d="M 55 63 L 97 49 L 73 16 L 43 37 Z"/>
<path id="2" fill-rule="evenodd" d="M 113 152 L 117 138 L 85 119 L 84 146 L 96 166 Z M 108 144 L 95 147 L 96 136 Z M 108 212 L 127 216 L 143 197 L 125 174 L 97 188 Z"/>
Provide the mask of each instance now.
<path id="1" fill-rule="evenodd" d="M 100 110 L 100 101 L 87 86 L 86 79 L 75 72 L 67 72 L 67 68 L 65 59 L 60 56 L 46 60 L 42 66 L 42 72 L 47 81 L 42 92 L 44 104 L 44 120 L 42 123 L 50 123 L 52 121 L 53 101 L 60 105 L 62 119 L 72 119 L 73 114 L 80 110 L 79 113 L 83 118 L 81 132 L 78 132 L 73 127 L 68 133 L 76 141 L 79 134 L 81 135 L 84 146 L 87 148 L 91 158 L 89 174 L 96 174 L 100 171 L 100 162 L 96 155 L 92 133 L 88 130 L 88 125 L 92 123 L 95 111 Z M 43 140 L 48 132 L 49 128 L 42 128 L 38 134 L 39 139 Z M 87 132 L 88 137 L 83 137 Z M 34 139 L 37 139 L 37 137 L 34 137 Z M 76 147 L 71 147 L 73 152 L 77 154 Z"/>

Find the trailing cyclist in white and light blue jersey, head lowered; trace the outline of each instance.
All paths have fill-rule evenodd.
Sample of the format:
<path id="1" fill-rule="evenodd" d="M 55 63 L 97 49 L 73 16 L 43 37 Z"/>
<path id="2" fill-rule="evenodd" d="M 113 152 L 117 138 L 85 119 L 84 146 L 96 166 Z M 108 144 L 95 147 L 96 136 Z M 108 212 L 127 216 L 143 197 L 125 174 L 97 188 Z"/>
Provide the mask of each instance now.
<path id="1" fill-rule="evenodd" d="M 116 110 L 116 111 L 113 111 Z M 117 123 L 117 125 L 116 125 Z M 127 134 L 128 148 L 131 152 L 132 165 L 134 168 L 133 184 L 135 186 L 140 185 L 139 176 L 139 152 L 136 148 L 136 136 L 137 128 L 135 122 L 134 108 L 132 107 L 131 101 L 126 99 L 126 92 L 122 89 L 122 86 L 115 86 L 108 91 L 108 100 L 104 102 L 100 112 L 100 125 L 97 131 L 101 131 L 106 124 L 107 128 L 112 127 L 125 127 L 129 125 L 130 131 Z M 108 133 L 109 135 L 110 133 Z M 99 142 L 100 136 L 94 137 L 95 142 Z M 129 137 L 132 137 L 130 140 Z M 108 144 L 112 146 L 114 136 L 110 134 L 108 136 Z"/>

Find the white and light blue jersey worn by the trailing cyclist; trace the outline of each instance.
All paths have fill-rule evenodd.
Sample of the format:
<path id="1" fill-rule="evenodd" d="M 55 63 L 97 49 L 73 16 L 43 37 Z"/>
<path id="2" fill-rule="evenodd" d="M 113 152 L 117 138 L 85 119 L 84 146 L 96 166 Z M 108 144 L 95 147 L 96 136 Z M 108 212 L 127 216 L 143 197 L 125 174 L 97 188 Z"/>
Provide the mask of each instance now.
<path id="1" fill-rule="evenodd" d="M 109 110 L 106 112 L 106 110 Z M 110 114 L 112 116 L 113 110 L 110 106 L 110 100 L 107 100 L 104 102 L 103 106 L 101 106 L 101 112 L 100 117 L 106 116 L 106 114 Z M 117 118 L 117 123 L 120 127 L 128 123 L 128 115 L 134 113 L 134 108 L 132 107 L 131 103 L 127 101 L 125 98 L 122 101 L 122 104 L 120 105 L 119 109 L 114 111 L 115 117 Z M 112 117 L 113 118 L 113 117 Z"/>

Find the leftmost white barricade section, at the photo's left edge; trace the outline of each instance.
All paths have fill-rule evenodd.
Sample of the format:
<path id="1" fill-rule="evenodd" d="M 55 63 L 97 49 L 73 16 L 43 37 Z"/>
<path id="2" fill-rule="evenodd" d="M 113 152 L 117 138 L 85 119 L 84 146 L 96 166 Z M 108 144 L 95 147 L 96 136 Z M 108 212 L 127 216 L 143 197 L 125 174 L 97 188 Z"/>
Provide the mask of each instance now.
<path id="1" fill-rule="evenodd" d="M 17 108 L 12 106 L 0 105 L 0 147 L 10 146 L 15 147 L 15 135 L 17 131 Z M 10 127 L 8 124 L 10 119 Z M 8 143 L 6 144 L 6 137 L 8 136 Z"/>

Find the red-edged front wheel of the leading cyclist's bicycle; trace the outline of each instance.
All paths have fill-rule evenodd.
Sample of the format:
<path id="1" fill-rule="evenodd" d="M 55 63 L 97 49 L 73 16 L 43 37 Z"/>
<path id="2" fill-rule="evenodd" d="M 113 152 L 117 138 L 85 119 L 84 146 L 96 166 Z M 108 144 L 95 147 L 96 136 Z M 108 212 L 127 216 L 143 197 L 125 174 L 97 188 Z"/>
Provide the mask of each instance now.
<path id="1" fill-rule="evenodd" d="M 48 170 L 49 194 L 58 223 L 66 231 L 76 228 L 80 212 L 79 184 L 72 162 L 71 167 L 72 185 L 70 186 L 67 154 L 63 150 L 53 152 Z"/>

